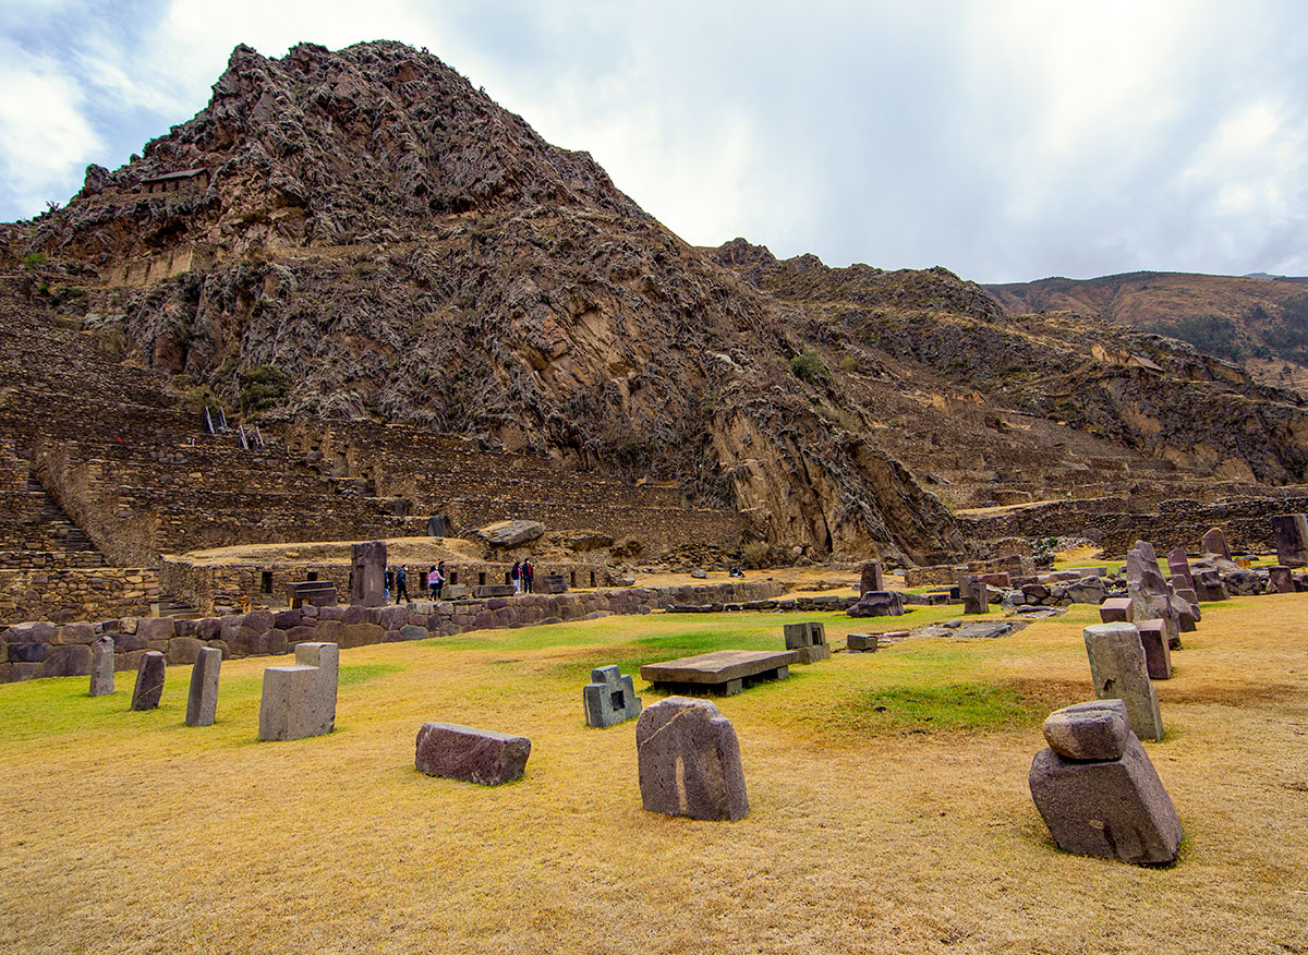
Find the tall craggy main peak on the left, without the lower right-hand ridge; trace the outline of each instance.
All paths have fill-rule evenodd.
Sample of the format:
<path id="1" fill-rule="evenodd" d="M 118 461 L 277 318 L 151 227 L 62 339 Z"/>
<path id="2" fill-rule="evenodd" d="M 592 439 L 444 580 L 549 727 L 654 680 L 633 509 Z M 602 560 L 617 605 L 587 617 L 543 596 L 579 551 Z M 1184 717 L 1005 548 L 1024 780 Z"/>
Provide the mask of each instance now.
<path id="1" fill-rule="evenodd" d="M 819 413 L 789 365 L 794 309 L 402 44 L 238 47 L 195 119 L 7 239 L 94 273 L 86 326 L 179 387 L 235 407 L 283 372 L 266 419 L 408 421 L 676 479 L 794 553 L 963 547 L 853 408 Z"/>

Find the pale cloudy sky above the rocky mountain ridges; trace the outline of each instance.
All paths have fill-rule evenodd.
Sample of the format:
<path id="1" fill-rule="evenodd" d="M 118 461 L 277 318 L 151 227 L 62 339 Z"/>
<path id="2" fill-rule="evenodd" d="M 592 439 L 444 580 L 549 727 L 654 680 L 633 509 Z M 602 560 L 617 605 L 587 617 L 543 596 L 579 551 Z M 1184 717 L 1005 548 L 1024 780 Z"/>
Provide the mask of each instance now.
<path id="1" fill-rule="evenodd" d="M 0 220 L 192 116 L 237 43 L 383 38 L 697 245 L 977 281 L 1308 275 L 1300 0 L 0 0 Z"/>

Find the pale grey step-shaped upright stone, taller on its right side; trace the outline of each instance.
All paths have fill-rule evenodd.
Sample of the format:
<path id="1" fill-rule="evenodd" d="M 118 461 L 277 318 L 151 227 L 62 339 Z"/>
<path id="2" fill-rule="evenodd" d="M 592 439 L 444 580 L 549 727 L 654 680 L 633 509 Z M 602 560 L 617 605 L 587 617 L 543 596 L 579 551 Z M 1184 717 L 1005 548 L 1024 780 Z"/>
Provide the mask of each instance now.
<path id="1" fill-rule="evenodd" d="M 294 666 L 263 671 L 259 739 L 303 739 L 336 726 L 336 644 L 298 644 Z"/>

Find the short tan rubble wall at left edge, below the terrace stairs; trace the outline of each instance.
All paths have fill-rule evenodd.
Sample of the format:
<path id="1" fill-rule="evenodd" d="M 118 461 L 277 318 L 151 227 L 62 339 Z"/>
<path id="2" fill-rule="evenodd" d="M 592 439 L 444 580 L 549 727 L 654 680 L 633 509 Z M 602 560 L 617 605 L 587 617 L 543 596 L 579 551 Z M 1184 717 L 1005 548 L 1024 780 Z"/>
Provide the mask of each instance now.
<path id="1" fill-rule="evenodd" d="M 158 600 L 153 570 L 120 566 L 0 570 L 0 624 L 144 616 Z"/>

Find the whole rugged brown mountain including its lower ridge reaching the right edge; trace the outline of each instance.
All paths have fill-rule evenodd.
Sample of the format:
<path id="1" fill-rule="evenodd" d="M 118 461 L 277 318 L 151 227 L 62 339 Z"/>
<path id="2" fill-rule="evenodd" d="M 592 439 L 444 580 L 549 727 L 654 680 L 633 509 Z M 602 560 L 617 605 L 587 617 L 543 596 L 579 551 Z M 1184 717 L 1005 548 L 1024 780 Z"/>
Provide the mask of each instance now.
<path id="1" fill-rule="evenodd" d="M 204 110 L 0 256 L 3 305 L 183 402 L 675 480 L 774 556 L 929 561 L 969 546 L 951 508 L 1308 470 L 1301 399 L 1230 364 L 940 268 L 691 247 L 400 43 L 237 47 Z"/>

